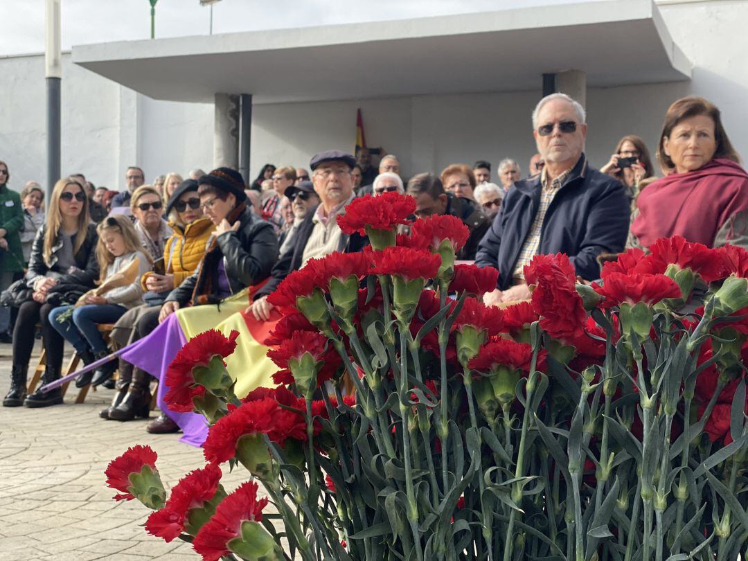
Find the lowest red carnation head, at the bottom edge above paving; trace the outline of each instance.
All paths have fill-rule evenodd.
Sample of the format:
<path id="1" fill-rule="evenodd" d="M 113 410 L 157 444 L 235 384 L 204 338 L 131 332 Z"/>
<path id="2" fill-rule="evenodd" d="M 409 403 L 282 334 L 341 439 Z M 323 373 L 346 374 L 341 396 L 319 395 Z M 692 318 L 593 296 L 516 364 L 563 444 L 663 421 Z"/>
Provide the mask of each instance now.
<path id="1" fill-rule="evenodd" d="M 258 524 L 267 503 L 267 498 L 257 497 L 257 483 L 243 483 L 218 504 L 215 515 L 194 537 L 192 548 L 203 561 L 218 561 L 245 548 L 251 548 L 255 559 L 282 559 L 280 546 Z"/>

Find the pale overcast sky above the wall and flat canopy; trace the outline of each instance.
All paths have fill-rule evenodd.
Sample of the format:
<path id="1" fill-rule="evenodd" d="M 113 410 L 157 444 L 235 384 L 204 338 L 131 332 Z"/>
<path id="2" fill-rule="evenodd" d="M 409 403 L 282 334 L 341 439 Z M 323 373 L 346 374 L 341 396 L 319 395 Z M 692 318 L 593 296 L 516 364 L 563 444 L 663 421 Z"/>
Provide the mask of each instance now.
<path id="1" fill-rule="evenodd" d="M 213 32 L 381 21 L 578 0 L 222 0 Z M 589 0 L 588 0 L 589 1 Z M 45 0 L 0 0 L 0 55 L 43 52 Z M 149 0 L 61 0 L 62 48 L 150 37 Z M 199 0 L 158 0 L 156 38 L 209 32 Z"/>

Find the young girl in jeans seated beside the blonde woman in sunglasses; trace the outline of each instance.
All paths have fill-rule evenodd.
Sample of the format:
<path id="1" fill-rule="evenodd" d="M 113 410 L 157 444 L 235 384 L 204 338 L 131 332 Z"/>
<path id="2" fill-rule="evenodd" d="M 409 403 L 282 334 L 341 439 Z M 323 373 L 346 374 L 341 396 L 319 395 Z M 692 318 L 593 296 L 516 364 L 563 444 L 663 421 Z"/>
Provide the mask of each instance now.
<path id="1" fill-rule="evenodd" d="M 143 304 L 141 277 L 150 271 L 153 260 L 144 251 L 140 236 L 125 215 L 105 218 L 96 231 L 99 233 L 96 259 L 99 261 L 101 281 L 123 271 L 135 259 L 138 260 L 138 277 L 132 283 L 118 286 L 104 295 L 88 296 L 84 306 L 73 308 L 72 316 L 65 312 L 73 306 L 55 308 L 49 314 L 49 322 L 76 351 L 93 352 L 93 356 L 99 359 L 109 352 L 96 324 L 114 323 L 129 308 Z M 114 373 L 116 364 L 113 361 L 96 369 L 91 375 L 91 384 L 98 385 L 109 378 Z"/>

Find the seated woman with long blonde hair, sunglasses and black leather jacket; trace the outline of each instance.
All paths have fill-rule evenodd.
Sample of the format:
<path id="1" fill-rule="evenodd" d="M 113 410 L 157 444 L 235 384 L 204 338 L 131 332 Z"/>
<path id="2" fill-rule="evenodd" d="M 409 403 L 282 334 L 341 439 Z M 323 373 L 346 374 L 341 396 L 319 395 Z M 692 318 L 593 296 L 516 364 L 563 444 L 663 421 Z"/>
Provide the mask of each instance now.
<path id="1" fill-rule="evenodd" d="M 62 393 L 37 390 L 26 397 L 28 360 L 34 347 L 34 331 L 41 323 L 46 350 L 46 367 L 40 385 L 60 377 L 64 339 L 49 323 L 55 304 L 46 299 L 55 286 L 92 288 L 99 278 L 96 263 L 96 225 L 88 217 L 88 197 L 76 180 L 66 177 L 55 183 L 47 209 L 46 224 L 40 228 L 31 248 L 25 284 L 16 293 L 22 301 L 13 328 L 13 367 L 5 407 L 46 407 L 62 402 Z"/>

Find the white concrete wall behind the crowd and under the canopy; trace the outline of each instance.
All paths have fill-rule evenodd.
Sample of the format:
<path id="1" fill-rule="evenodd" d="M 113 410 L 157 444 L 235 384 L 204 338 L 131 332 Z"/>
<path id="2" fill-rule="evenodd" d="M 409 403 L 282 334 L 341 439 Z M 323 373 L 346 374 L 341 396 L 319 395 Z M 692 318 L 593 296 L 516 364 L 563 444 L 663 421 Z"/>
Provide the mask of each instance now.
<path id="1" fill-rule="evenodd" d="M 720 107 L 732 143 L 748 158 L 748 2 L 663 4 L 660 11 L 693 63 L 693 79 L 590 88 L 587 153 L 592 162 L 604 164 L 625 134 L 642 136 L 654 152 L 666 108 L 692 93 Z M 43 183 L 43 57 L 0 58 L 0 76 L 0 159 L 10 167 L 14 188 L 32 179 Z M 254 177 L 266 162 L 307 167 L 319 150 L 353 150 L 359 107 L 368 144 L 398 155 L 406 176 L 438 172 L 450 162 L 488 159 L 496 165 L 506 156 L 518 159 L 525 173 L 535 152 L 530 112 L 540 82 L 539 76 L 536 91 L 513 93 L 256 105 L 250 173 Z M 375 84 L 373 77 L 373 98 Z M 125 168 L 134 162 L 148 181 L 169 171 L 212 168 L 212 105 L 149 99 L 76 67 L 70 55 L 63 58 L 62 95 L 63 173 L 82 171 L 96 185 L 123 188 Z"/>

